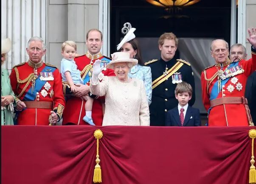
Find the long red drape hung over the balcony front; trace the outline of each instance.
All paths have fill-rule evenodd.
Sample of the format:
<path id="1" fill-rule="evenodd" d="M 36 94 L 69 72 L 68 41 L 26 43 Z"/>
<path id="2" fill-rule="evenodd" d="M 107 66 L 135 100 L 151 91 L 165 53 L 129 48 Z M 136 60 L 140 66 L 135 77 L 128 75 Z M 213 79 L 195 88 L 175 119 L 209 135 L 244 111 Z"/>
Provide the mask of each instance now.
<path id="1" fill-rule="evenodd" d="M 251 127 L 2 126 L 2 184 L 248 184 Z"/>

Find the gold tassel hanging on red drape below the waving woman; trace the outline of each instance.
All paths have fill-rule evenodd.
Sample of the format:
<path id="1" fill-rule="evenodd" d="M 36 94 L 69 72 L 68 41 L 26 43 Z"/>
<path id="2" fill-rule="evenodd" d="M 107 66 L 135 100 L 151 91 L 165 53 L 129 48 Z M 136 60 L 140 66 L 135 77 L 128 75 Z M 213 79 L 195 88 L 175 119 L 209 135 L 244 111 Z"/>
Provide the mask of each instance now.
<path id="1" fill-rule="evenodd" d="M 99 159 L 99 155 L 98 155 L 98 140 L 101 139 L 101 137 L 103 137 L 103 133 L 101 132 L 100 129 L 95 130 L 94 137 L 97 139 L 97 155 L 96 155 L 96 165 L 95 165 L 94 174 L 93 174 L 93 182 L 101 183 L 101 166 L 99 165 L 99 162 L 101 160 Z"/>

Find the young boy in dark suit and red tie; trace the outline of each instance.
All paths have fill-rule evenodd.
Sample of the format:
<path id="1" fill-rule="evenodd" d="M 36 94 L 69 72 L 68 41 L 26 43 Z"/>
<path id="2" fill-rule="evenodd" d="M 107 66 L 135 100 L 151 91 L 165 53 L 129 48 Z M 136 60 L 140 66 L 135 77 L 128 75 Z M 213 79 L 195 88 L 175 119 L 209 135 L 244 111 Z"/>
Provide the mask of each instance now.
<path id="1" fill-rule="evenodd" d="M 199 109 L 190 107 L 192 87 L 187 82 L 180 82 L 175 88 L 175 97 L 179 104 L 166 115 L 166 126 L 201 126 Z"/>

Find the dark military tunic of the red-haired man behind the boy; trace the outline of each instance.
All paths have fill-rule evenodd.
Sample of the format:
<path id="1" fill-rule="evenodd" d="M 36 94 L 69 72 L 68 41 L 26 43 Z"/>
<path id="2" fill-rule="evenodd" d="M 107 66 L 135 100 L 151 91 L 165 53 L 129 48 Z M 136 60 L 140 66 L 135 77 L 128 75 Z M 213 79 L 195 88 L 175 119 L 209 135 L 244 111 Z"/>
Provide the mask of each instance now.
<path id="1" fill-rule="evenodd" d="M 165 116 L 168 110 L 173 109 L 178 105 L 178 100 L 175 98 L 175 88 L 178 82 L 188 82 L 192 88 L 192 98 L 188 102 L 192 106 L 195 102 L 195 83 L 192 69 L 189 63 L 181 60 L 183 65 L 175 71 L 175 73 L 164 80 L 162 83 L 152 89 L 152 103 L 149 106 L 150 111 L 150 126 L 165 126 Z M 145 63 L 150 66 L 152 72 L 152 81 L 158 79 L 167 70 L 170 70 L 177 62 L 176 59 L 164 61 L 163 59 Z M 178 64 L 178 63 L 177 63 Z M 175 84 L 173 84 L 175 82 Z M 177 83 L 176 83 L 177 82 Z"/>

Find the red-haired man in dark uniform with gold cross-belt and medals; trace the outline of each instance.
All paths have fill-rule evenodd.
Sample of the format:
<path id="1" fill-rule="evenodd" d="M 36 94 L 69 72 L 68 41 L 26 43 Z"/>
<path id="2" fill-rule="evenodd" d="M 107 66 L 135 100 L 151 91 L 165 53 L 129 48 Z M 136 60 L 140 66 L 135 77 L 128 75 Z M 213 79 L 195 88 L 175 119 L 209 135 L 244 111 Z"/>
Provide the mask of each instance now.
<path id="1" fill-rule="evenodd" d="M 195 102 L 195 83 L 191 66 L 188 62 L 175 59 L 178 39 L 173 33 L 164 33 L 158 40 L 161 51 L 160 60 L 146 62 L 152 72 L 152 104 L 149 106 L 150 126 L 165 126 L 165 116 L 168 110 L 178 105 L 175 98 L 177 83 L 188 82 L 192 88 L 192 98 L 188 102 L 192 106 Z"/>

